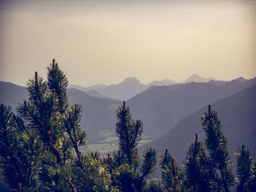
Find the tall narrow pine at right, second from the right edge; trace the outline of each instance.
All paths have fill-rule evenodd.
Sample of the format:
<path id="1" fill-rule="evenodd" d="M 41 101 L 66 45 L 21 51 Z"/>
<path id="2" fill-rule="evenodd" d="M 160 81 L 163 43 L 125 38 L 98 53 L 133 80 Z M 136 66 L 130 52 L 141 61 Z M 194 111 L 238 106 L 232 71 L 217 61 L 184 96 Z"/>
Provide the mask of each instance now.
<path id="1" fill-rule="evenodd" d="M 232 163 L 228 153 L 227 138 L 222 131 L 222 123 L 217 112 L 211 110 L 208 105 L 208 112 L 203 112 L 201 117 L 203 130 L 206 132 L 206 147 L 210 155 L 211 167 L 214 174 L 212 181 L 226 192 L 234 183 Z"/>

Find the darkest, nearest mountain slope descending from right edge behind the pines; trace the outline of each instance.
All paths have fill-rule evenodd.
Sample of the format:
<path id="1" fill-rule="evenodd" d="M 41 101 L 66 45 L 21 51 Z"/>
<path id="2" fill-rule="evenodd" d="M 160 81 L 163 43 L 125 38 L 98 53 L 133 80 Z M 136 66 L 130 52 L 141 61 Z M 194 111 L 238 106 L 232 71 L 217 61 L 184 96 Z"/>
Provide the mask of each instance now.
<path id="1" fill-rule="evenodd" d="M 252 157 L 256 158 L 255 98 L 256 85 L 211 104 L 211 109 L 217 111 L 217 115 L 222 121 L 233 163 L 235 162 L 234 151 L 244 143 L 251 150 Z M 154 147 L 158 153 L 164 153 L 165 148 L 168 148 L 176 161 L 181 164 L 189 148 L 189 143 L 195 141 L 195 133 L 198 133 L 201 141 L 205 139 L 203 128 L 200 125 L 200 115 L 207 109 L 208 107 L 205 105 L 200 110 L 193 112 L 162 137 L 143 145 L 143 148 Z"/>

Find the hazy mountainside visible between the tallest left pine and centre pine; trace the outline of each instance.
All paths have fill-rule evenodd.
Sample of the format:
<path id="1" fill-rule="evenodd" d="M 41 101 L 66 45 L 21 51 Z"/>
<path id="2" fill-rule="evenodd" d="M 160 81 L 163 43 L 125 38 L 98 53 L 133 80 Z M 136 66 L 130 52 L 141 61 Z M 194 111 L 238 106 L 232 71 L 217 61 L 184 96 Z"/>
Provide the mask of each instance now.
<path id="1" fill-rule="evenodd" d="M 121 101 L 93 97 L 75 88 L 69 88 L 67 96 L 69 104 L 81 104 L 83 107 L 81 128 L 86 131 L 89 142 L 115 134 L 116 109 Z"/>

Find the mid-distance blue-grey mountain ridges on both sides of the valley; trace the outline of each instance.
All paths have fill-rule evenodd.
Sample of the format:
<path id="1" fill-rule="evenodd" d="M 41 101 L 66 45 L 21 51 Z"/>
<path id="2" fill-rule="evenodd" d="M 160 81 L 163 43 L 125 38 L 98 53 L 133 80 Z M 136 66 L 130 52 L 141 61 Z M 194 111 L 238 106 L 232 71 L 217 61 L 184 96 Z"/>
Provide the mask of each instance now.
<path id="1" fill-rule="evenodd" d="M 256 85 L 256 78 L 151 86 L 129 99 L 127 105 L 131 108 L 133 118 L 143 121 L 144 134 L 157 139 L 204 105 L 252 85 Z M 19 102 L 28 99 L 25 87 L 10 82 L 0 82 L 0 90 L 0 103 L 11 105 L 14 110 Z M 67 93 L 69 104 L 82 104 L 81 127 L 88 134 L 89 142 L 98 142 L 106 136 L 115 135 L 116 109 L 121 101 L 90 96 L 76 88 L 68 88 Z"/>

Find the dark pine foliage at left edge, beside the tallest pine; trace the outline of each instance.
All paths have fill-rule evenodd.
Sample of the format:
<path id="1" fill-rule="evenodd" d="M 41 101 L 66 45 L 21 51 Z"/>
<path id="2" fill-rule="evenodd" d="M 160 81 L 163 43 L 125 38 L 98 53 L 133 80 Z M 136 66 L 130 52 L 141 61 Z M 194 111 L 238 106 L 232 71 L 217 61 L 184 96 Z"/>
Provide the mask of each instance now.
<path id="1" fill-rule="evenodd" d="M 42 142 L 36 131 L 25 128 L 22 120 L 3 104 L 0 108 L 0 128 L 1 174 L 17 191 L 20 186 L 26 191 L 38 191 L 37 172 Z"/>

